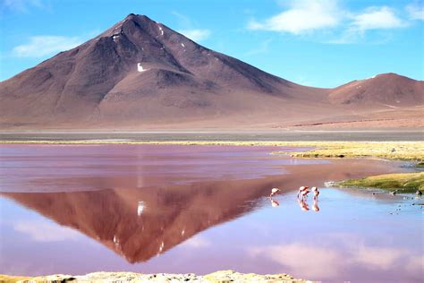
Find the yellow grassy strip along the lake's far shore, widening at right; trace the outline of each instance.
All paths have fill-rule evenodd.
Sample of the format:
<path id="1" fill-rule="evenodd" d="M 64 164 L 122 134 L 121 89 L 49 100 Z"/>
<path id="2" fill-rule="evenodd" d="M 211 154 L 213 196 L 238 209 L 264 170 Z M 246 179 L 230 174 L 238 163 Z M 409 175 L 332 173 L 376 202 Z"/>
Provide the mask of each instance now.
<path id="1" fill-rule="evenodd" d="M 377 158 L 424 162 L 424 142 L 285 142 L 285 141 L 133 141 L 133 140 L 0 140 L 0 144 L 51 145 L 182 145 L 182 146 L 269 146 L 307 148 L 301 151 L 273 151 L 271 154 L 291 155 L 294 158 L 342 159 Z"/>

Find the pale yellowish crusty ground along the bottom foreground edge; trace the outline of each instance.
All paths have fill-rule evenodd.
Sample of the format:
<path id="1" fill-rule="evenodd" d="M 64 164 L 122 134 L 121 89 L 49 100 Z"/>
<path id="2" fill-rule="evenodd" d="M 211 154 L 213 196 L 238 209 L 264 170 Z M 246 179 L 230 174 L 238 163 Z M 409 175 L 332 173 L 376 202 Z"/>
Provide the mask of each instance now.
<path id="1" fill-rule="evenodd" d="M 48 275 L 40 277 L 19 277 L 0 275 L 0 282 L 310 282 L 293 279 L 287 274 L 259 275 L 222 270 L 199 276 L 188 274 L 140 274 L 133 272 L 94 272 L 87 275 Z"/>

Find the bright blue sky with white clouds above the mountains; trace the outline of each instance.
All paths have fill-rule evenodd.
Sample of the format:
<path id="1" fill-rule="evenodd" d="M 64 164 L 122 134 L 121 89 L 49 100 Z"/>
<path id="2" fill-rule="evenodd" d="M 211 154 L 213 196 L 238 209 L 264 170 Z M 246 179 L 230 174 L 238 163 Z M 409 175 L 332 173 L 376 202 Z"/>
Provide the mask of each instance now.
<path id="1" fill-rule="evenodd" d="M 0 0 L 0 81 L 129 13 L 267 73 L 332 88 L 378 73 L 424 80 L 424 0 Z"/>

